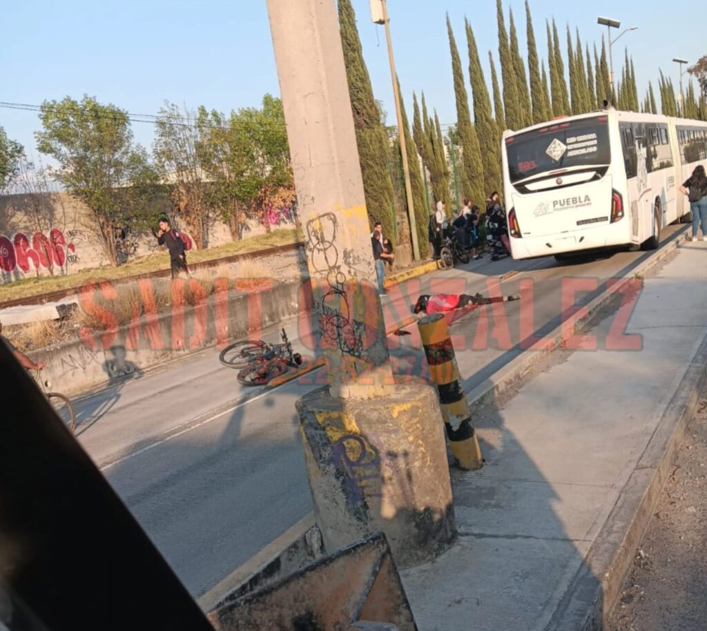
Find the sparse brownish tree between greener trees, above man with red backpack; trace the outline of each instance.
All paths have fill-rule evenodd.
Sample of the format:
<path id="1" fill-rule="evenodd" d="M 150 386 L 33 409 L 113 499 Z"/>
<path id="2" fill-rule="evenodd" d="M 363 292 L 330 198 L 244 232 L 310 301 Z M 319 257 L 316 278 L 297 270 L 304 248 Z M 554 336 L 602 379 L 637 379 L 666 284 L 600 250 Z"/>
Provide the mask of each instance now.
<path id="1" fill-rule="evenodd" d="M 209 185 L 199 163 L 199 141 L 196 112 L 165 102 L 158 112 L 153 154 L 177 213 L 201 248 L 214 216 Z"/>

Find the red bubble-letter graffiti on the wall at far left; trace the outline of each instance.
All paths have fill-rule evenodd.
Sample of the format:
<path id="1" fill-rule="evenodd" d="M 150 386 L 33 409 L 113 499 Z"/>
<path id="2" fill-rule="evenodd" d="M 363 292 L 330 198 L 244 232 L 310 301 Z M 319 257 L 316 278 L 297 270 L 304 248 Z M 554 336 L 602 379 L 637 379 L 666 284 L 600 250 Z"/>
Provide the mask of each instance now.
<path id="1" fill-rule="evenodd" d="M 73 239 L 67 243 L 59 228 L 49 230 L 49 235 L 35 232 L 31 240 L 24 232 L 16 232 L 12 238 L 0 235 L 0 270 L 4 272 L 27 273 L 32 266 L 53 269 L 76 262 L 76 245 Z"/>

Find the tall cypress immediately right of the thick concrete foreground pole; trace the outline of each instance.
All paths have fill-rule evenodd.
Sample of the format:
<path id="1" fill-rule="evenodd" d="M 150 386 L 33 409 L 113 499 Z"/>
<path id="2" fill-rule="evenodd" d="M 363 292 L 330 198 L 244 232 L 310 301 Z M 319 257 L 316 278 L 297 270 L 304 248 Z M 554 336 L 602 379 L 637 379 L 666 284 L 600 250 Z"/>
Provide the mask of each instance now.
<path id="1" fill-rule="evenodd" d="M 351 109 L 354 111 L 356 144 L 368 218 L 371 225 L 375 220 L 379 220 L 384 233 L 390 235 L 392 240 L 396 233 L 392 210 L 395 195 L 387 164 L 388 136 L 382 125 L 380 108 L 375 102 L 368 69 L 363 61 L 361 40 L 356 29 L 356 14 L 351 0 L 339 0 L 339 26 Z"/>

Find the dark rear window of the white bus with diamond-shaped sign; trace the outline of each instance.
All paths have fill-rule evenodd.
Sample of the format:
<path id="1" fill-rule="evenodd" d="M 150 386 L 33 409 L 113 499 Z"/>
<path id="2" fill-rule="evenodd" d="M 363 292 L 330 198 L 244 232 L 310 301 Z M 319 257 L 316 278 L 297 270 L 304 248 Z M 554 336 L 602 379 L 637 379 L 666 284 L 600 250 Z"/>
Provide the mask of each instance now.
<path id="1" fill-rule="evenodd" d="M 513 184 L 558 169 L 609 165 L 609 124 L 606 117 L 553 122 L 506 138 L 506 154 Z"/>

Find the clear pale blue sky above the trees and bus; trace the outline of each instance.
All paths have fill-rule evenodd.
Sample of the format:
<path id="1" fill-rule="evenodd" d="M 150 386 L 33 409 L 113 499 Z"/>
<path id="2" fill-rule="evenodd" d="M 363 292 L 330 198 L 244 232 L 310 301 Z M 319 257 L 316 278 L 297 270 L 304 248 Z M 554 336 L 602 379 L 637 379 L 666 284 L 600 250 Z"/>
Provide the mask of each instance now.
<path id="1" fill-rule="evenodd" d="M 388 1 L 407 107 L 411 110 L 412 91 L 424 90 L 428 105 L 436 107 L 441 121 L 455 122 L 445 12 L 449 11 L 465 72 L 464 16 L 471 21 L 488 80 L 489 49 L 498 58 L 495 1 Z M 388 122 L 394 124 L 384 30 L 370 22 L 368 0 L 353 2 L 373 90 L 385 104 Z M 525 52 L 524 3 L 506 0 L 506 16 L 509 6 Z M 672 58 L 694 61 L 707 53 L 701 20 L 688 17 L 694 6 L 686 0 L 531 1 L 542 57 L 547 57 L 545 18 L 556 18 L 563 53 L 566 23 L 572 29 L 578 26 L 583 41 L 590 44 L 599 42 L 604 32 L 596 23 L 597 15 L 621 20 L 622 28 L 638 25 L 639 30 L 626 33 L 614 45 L 614 71 L 619 72 L 624 46 L 628 46 L 641 98 L 648 79 L 658 76 L 659 66 L 670 73 L 677 88 L 677 64 Z M 257 105 L 266 92 L 279 93 L 265 0 L 6 3 L 0 42 L 0 101 L 35 105 L 45 99 L 81 98 L 88 93 L 138 114 L 156 113 L 165 99 L 228 112 Z M 35 113 L 0 109 L 0 125 L 28 152 L 36 151 L 33 132 L 39 121 Z M 134 123 L 133 129 L 136 139 L 149 148 L 152 126 Z"/>

